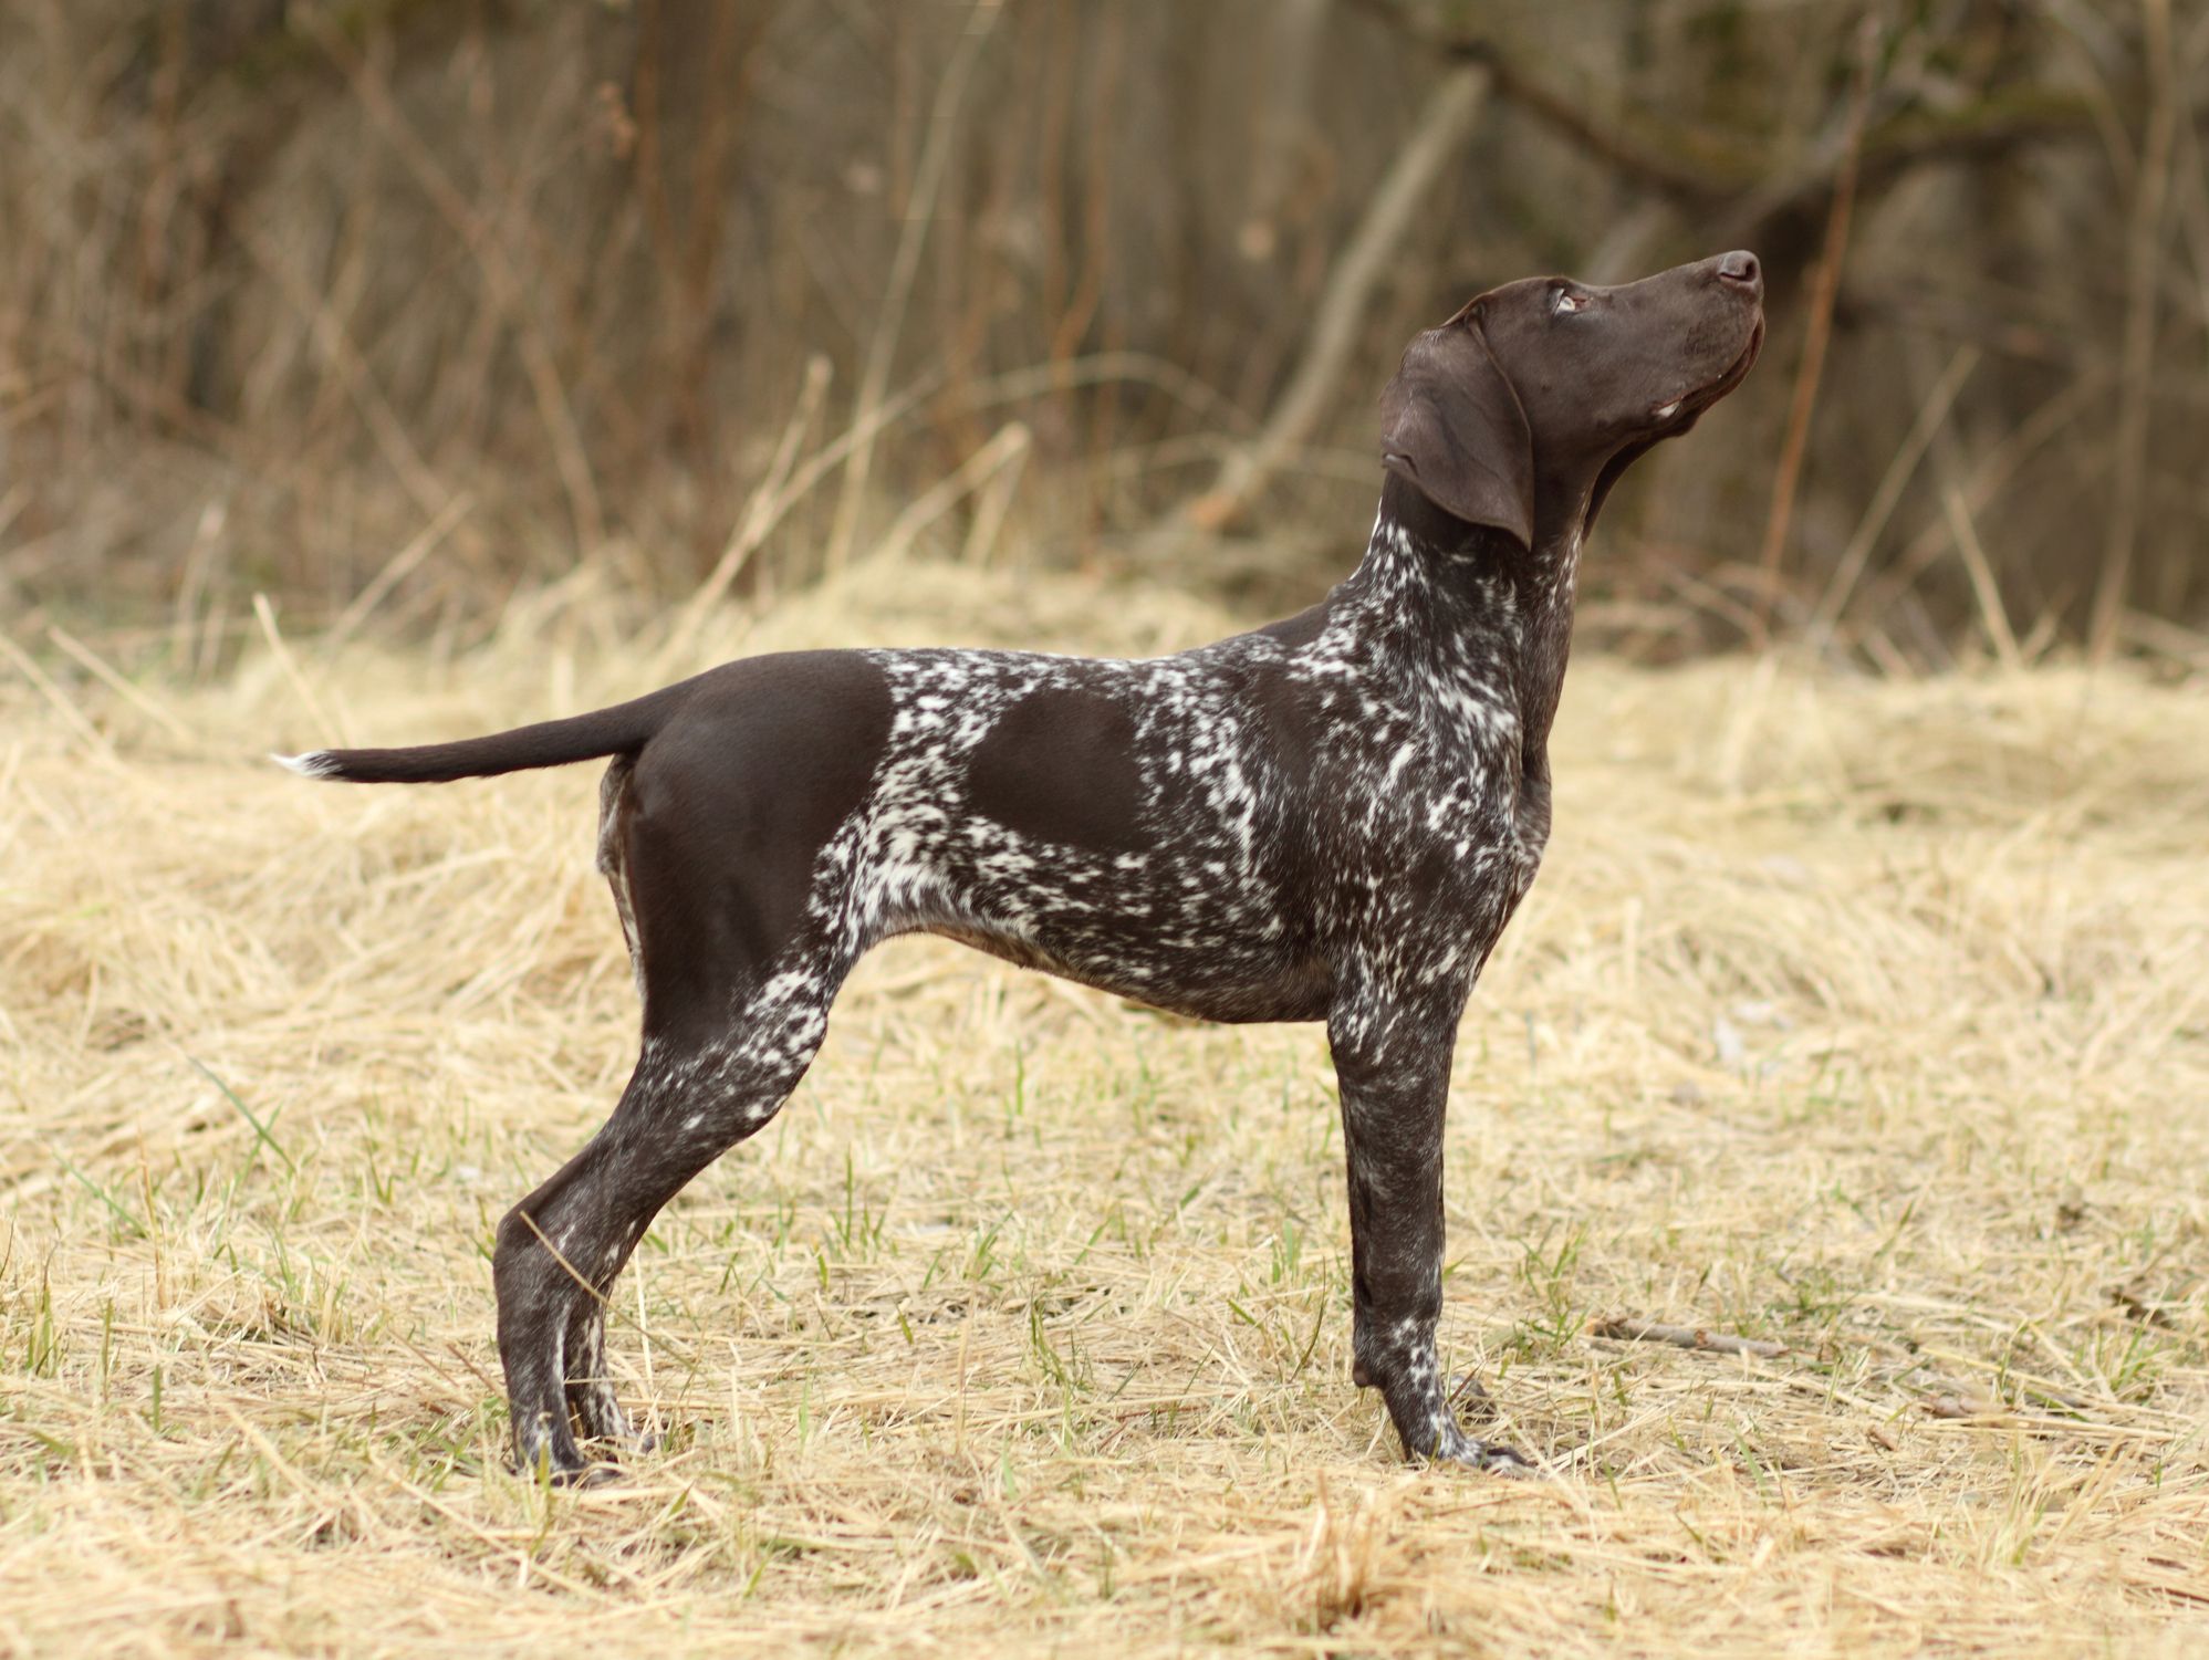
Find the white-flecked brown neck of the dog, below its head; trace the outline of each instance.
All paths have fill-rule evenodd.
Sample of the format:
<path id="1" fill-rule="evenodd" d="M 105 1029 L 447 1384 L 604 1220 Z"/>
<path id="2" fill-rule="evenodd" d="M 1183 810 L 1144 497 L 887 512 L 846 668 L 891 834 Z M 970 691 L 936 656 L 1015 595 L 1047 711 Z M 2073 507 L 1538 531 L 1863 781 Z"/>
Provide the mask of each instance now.
<path id="1" fill-rule="evenodd" d="M 1502 680 L 1542 768 L 1573 645 L 1582 510 L 1544 514 L 1533 547 L 1471 525 L 1389 477 L 1365 558 L 1341 587 L 1356 627 L 1414 673 Z"/>

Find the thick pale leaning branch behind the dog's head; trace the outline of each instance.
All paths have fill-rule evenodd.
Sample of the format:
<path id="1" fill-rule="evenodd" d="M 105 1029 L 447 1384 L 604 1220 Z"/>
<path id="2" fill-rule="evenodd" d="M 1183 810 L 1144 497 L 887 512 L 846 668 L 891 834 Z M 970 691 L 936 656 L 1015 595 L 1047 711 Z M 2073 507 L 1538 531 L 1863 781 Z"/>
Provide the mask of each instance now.
<path id="1" fill-rule="evenodd" d="M 1427 99 L 1412 141 L 1396 152 L 1387 179 L 1365 210 L 1365 221 L 1328 276 L 1328 289 L 1312 318 L 1312 347 L 1297 364 L 1281 402 L 1250 444 L 1228 453 L 1213 488 L 1184 503 L 1182 517 L 1199 530 L 1222 530 L 1239 519 L 1288 450 L 1303 444 L 1319 424 L 1350 362 L 1374 285 L 1412 230 L 1418 203 L 1465 143 L 1487 91 L 1489 71 L 1469 66 L 1456 71 Z"/>

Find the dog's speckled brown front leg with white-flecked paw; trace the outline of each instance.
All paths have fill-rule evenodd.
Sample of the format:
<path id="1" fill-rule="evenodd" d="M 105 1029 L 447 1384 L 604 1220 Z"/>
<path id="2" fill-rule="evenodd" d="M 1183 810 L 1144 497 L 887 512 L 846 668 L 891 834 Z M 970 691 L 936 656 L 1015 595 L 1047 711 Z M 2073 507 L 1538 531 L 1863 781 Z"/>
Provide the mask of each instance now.
<path id="1" fill-rule="evenodd" d="M 1407 1457 L 1524 1470 L 1469 1437 L 1434 1351 L 1442 1316 L 1442 1117 L 1465 987 L 1403 991 L 1365 978 L 1328 1015 L 1350 1168 L 1352 1353 Z"/>

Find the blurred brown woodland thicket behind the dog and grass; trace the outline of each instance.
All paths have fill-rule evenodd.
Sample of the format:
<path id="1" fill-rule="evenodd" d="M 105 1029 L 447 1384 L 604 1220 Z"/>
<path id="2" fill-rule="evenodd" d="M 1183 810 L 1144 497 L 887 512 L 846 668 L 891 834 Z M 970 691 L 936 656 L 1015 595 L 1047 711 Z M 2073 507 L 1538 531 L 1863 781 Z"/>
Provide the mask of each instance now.
<path id="1" fill-rule="evenodd" d="M 1613 510 L 1613 642 L 2200 660 L 2205 55 L 2191 0 L 15 0 L 0 605 L 429 627 L 884 536 L 1310 594 L 1416 327 L 1750 245 L 1765 364 Z"/>

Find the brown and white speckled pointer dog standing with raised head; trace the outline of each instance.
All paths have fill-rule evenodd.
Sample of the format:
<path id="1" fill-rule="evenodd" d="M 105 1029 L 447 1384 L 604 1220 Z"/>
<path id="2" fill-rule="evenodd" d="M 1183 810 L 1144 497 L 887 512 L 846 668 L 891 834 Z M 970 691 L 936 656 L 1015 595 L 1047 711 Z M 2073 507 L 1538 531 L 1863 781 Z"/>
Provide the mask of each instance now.
<path id="1" fill-rule="evenodd" d="M 1354 1377 L 1407 1455 L 1520 1466 L 1458 1426 L 1436 1364 L 1451 1044 L 1549 837 L 1582 539 L 1763 329 L 1741 252 L 1482 294 L 1381 400 L 1381 512 L 1350 581 L 1175 658 L 793 651 L 495 737 L 278 757 L 358 784 L 612 757 L 599 868 L 643 1053 L 497 1232 L 521 1466 L 594 1472 L 577 1430 L 638 1446 L 605 1377 L 614 1276 L 775 1115 L 859 954 L 915 932 L 1204 1020 L 1325 1020 Z"/>

